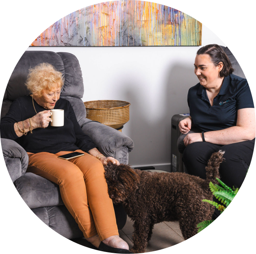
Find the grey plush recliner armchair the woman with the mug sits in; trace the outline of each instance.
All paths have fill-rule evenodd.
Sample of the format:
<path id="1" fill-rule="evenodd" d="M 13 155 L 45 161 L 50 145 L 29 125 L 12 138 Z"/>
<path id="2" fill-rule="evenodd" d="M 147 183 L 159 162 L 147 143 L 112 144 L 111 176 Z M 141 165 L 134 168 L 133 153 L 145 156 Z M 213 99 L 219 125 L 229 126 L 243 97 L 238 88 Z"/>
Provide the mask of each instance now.
<path id="1" fill-rule="evenodd" d="M 132 139 L 122 132 L 86 118 L 81 99 L 84 93 L 82 71 L 78 59 L 70 53 L 25 51 L 9 78 L 2 101 L 1 118 L 6 115 L 12 101 L 29 94 L 24 86 L 28 70 L 42 62 L 52 64 L 63 74 L 65 82 L 61 97 L 70 101 L 83 132 L 93 139 L 98 150 L 127 164 L 128 152 L 134 148 Z M 1 138 L 1 146 L 11 181 L 32 212 L 61 236 L 67 239 L 82 237 L 82 231 L 63 204 L 59 186 L 38 175 L 26 173 L 28 155 L 17 142 Z M 126 213 L 122 206 L 114 205 L 114 208 L 120 230 L 126 223 Z"/>

